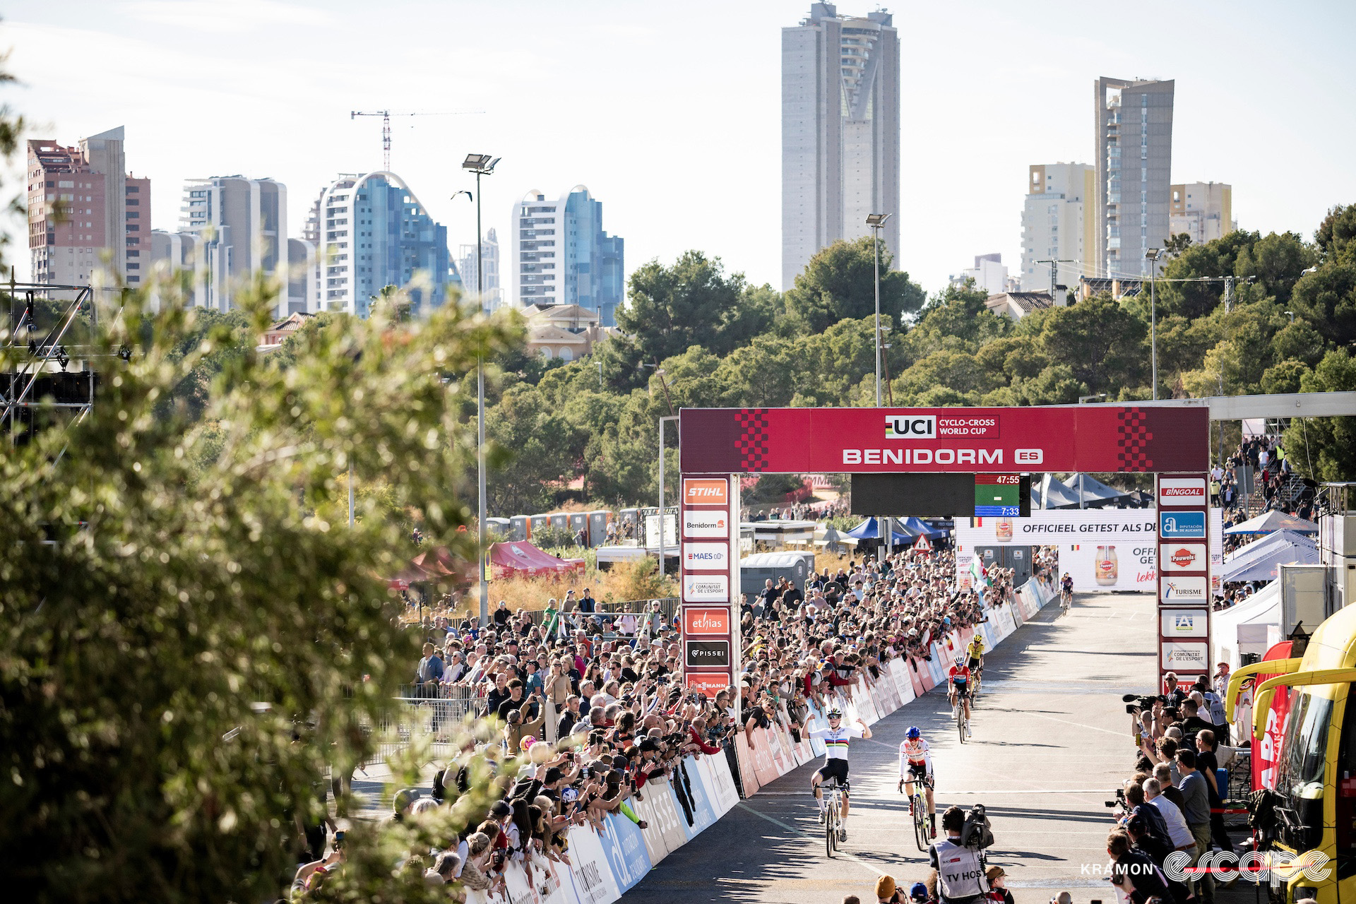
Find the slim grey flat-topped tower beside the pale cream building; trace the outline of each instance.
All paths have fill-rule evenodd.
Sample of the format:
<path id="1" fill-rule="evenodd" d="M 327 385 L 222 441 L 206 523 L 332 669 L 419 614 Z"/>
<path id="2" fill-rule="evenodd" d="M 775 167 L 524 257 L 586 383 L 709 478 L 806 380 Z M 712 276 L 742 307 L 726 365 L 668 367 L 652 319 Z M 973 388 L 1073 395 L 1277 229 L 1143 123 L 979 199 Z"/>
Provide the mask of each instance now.
<path id="1" fill-rule="evenodd" d="M 1173 83 L 1094 84 L 1097 275 L 1147 276 L 1144 255 L 1168 240 Z"/>

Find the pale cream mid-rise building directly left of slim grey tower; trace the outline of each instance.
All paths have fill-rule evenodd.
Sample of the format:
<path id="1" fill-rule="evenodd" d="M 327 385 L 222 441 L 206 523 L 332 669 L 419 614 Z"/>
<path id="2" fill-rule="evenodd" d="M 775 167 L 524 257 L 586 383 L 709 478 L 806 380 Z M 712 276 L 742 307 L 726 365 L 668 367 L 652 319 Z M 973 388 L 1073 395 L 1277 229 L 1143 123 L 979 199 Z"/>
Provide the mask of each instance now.
<path id="1" fill-rule="evenodd" d="M 1078 276 L 1092 276 L 1096 264 L 1096 220 L 1092 199 L 1097 173 L 1086 163 L 1043 163 L 1028 168 L 1026 203 L 1021 211 L 1022 291 L 1050 291 L 1050 264 L 1055 282 L 1073 289 Z"/>

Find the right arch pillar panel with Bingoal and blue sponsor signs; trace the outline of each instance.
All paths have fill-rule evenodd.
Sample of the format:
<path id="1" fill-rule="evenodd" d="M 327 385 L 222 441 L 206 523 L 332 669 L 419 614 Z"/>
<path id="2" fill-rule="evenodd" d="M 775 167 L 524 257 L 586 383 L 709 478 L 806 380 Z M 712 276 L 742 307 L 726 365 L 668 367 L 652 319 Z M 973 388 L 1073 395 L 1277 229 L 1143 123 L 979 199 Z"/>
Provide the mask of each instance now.
<path id="1" fill-rule="evenodd" d="M 1210 674 L 1211 516 L 1205 474 L 1158 474 L 1158 670 Z"/>

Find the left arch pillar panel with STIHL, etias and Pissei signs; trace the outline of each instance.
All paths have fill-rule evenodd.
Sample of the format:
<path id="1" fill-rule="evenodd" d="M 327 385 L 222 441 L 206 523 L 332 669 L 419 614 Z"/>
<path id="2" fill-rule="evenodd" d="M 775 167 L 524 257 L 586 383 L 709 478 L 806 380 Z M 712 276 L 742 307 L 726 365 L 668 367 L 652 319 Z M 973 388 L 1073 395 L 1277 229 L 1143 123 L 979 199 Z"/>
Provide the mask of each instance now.
<path id="1" fill-rule="evenodd" d="M 730 474 L 682 476 L 678 519 L 683 686 L 713 697 L 739 667 L 739 489 Z"/>

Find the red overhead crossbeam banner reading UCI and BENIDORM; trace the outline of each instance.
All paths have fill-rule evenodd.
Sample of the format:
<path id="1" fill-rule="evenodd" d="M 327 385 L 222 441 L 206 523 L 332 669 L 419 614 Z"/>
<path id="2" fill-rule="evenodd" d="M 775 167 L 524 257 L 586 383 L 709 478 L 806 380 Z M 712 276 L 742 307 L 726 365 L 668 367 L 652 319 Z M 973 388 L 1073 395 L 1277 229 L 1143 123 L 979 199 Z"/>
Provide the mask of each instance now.
<path id="1" fill-rule="evenodd" d="M 1205 408 L 698 408 L 681 416 L 686 473 L 1200 470 L 1210 455 Z"/>

